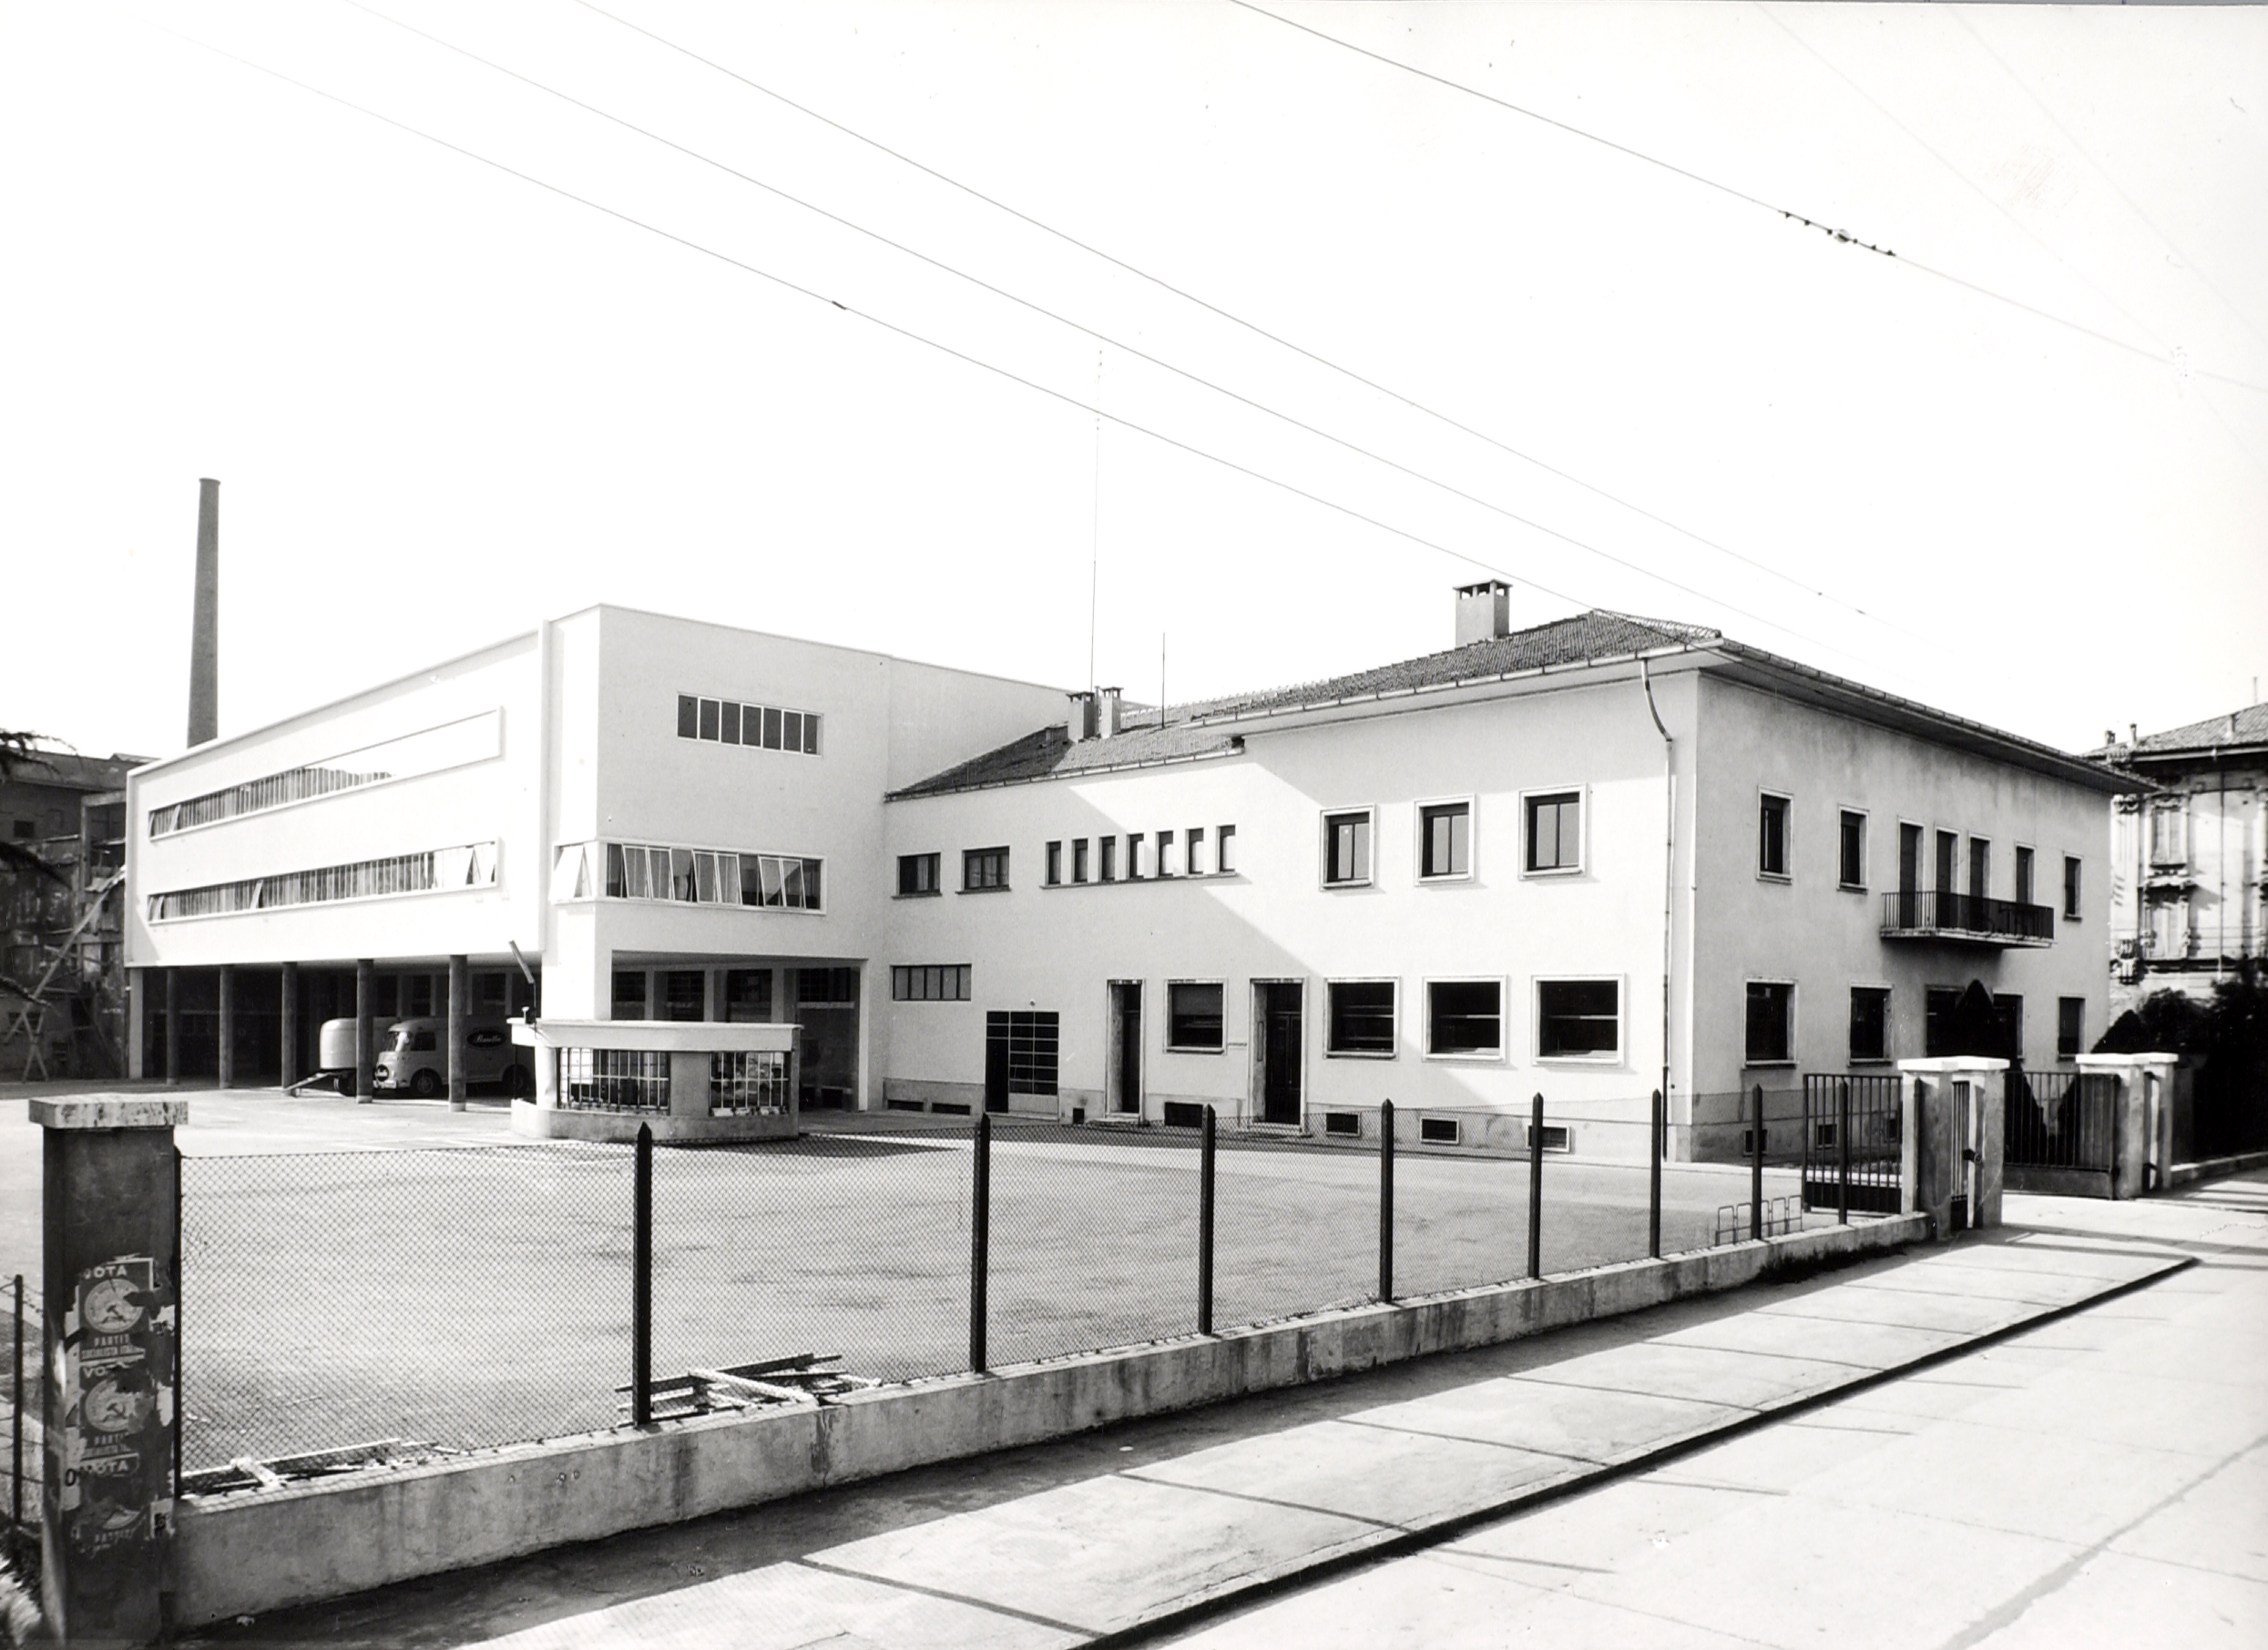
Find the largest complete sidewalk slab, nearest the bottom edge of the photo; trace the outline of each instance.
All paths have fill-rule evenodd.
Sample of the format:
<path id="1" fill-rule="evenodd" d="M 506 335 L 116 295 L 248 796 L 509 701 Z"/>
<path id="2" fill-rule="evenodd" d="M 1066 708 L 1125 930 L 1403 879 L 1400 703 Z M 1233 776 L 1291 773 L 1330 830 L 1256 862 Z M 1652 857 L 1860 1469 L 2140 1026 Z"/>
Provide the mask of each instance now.
<path id="1" fill-rule="evenodd" d="M 1334 1559 L 1377 1523 L 1114 1473 L 810 1555 L 939 1598 L 1116 1632 Z"/>

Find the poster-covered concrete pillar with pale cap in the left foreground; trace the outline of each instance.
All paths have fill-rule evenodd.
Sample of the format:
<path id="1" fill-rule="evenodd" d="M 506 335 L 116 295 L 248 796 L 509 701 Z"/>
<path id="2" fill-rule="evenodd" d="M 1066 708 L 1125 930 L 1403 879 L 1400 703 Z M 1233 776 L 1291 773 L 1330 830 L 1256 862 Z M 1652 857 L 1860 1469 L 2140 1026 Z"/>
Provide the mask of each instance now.
<path id="1" fill-rule="evenodd" d="M 177 1457 L 172 1131 L 188 1102 L 34 1099 L 45 1176 L 41 1605 L 64 1643 L 154 1643 Z"/>

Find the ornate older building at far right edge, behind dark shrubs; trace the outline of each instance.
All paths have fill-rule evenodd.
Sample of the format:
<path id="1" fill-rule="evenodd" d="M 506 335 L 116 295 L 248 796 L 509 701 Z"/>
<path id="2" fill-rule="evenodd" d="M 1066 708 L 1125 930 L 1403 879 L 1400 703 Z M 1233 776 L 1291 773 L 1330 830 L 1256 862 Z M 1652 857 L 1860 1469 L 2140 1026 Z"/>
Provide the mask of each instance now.
<path id="1" fill-rule="evenodd" d="M 2268 705 L 2091 757 L 2130 777 L 2109 843 L 2109 1011 L 2168 988 L 2207 997 L 2268 956 Z"/>

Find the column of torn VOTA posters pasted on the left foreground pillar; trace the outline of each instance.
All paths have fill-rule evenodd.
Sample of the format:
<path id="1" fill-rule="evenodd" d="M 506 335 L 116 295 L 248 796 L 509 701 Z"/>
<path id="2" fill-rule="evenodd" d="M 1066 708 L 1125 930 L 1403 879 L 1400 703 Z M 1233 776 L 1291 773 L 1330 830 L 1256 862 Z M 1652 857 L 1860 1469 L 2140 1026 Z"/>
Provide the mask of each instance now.
<path id="1" fill-rule="evenodd" d="M 172 1281 L 150 1256 L 82 1269 L 57 1353 L 66 1407 L 48 1448 L 61 1457 L 50 1460 L 59 1534 L 82 1557 L 122 1559 L 172 1514 Z"/>

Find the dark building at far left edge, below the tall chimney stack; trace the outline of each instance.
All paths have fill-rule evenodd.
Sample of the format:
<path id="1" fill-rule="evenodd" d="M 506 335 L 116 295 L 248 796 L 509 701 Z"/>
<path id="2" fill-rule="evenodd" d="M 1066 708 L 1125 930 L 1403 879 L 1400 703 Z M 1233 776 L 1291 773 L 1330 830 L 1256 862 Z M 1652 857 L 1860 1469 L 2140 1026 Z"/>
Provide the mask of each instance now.
<path id="1" fill-rule="evenodd" d="M 0 775 L 0 834 L 54 873 L 0 866 L 0 1079 L 127 1068 L 125 898 L 111 882 L 125 866 L 125 780 L 138 762 L 32 746 Z M 23 1018 L 34 990 L 36 1061 Z"/>

